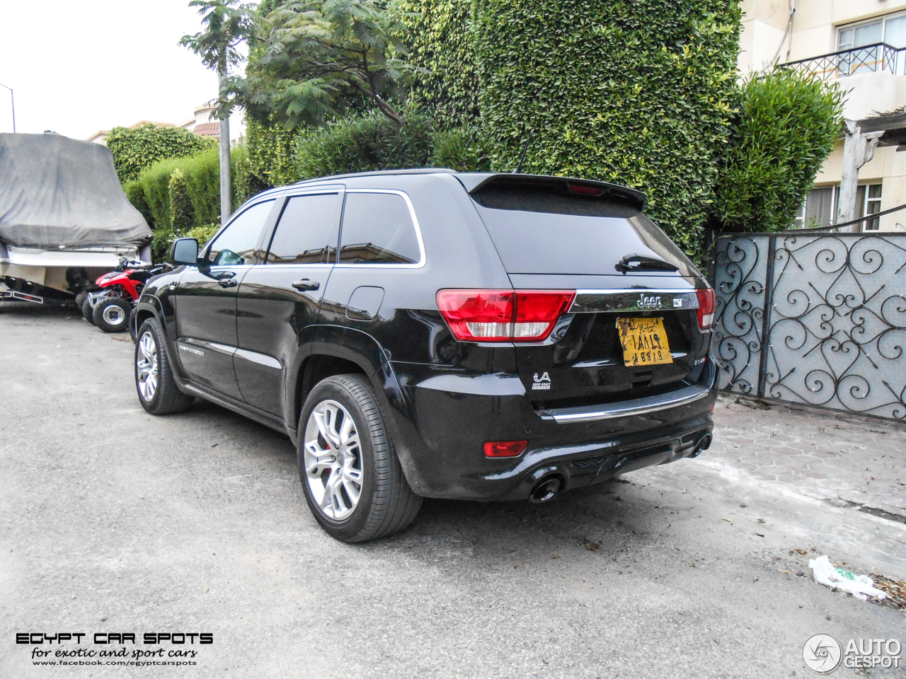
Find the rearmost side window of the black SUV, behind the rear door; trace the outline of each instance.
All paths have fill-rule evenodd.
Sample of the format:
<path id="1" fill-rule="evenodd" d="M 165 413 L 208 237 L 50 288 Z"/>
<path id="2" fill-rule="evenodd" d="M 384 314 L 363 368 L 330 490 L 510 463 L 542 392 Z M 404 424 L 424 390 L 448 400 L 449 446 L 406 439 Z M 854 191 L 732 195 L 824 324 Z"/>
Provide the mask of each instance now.
<path id="1" fill-rule="evenodd" d="M 411 264 L 419 262 L 419 238 L 409 206 L 396 194 L 346 194 L 340 262 Z"/>

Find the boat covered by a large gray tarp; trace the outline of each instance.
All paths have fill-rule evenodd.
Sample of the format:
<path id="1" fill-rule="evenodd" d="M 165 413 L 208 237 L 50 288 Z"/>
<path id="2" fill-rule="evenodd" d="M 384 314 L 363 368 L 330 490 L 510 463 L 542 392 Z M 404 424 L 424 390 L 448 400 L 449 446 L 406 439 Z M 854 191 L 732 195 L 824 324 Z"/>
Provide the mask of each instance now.
<path id="1" fill-rule="evenodd" d="M 72 299 L 122 257 L 149 262 L 151 238 L 109 148 L 0 134 L 0 299 Z"/>

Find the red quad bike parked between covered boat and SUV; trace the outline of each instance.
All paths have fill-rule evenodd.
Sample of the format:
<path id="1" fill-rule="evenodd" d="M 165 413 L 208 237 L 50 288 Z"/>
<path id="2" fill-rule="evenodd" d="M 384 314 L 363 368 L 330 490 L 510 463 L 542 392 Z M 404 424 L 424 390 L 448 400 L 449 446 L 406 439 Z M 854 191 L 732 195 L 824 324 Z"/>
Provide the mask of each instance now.
<path id="1" fill-rule="evenodd" d="M 169 264 L 151 265 L 123 258 L 116 269 L 95 281 L 100 290 L 87 294 L 82 302 L 82 316 L 104 332 L 126 330 L 145 283 L 172 268 Z"/>

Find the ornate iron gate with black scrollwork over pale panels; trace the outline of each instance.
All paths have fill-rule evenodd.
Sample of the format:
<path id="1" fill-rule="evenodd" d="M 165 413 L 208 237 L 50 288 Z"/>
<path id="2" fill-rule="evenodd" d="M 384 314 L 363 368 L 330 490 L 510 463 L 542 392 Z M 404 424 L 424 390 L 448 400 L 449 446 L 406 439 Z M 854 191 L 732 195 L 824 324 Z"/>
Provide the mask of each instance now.
<path id="1" fill-rule="evenodd" d="M 906 419 L 906 234 L 725 234 L 714 281 L 722 388 Z"/>

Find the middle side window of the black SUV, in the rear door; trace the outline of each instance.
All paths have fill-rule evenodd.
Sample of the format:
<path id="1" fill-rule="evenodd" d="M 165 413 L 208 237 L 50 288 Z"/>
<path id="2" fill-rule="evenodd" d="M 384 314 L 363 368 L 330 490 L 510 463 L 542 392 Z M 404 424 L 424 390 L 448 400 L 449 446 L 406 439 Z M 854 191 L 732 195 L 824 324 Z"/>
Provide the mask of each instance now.
<path id="1" fill-rule="evenodd" d="M 333 262 L 339 212 L 339 194 L 290 198 L 277 224 L 267 263 Z"/>

